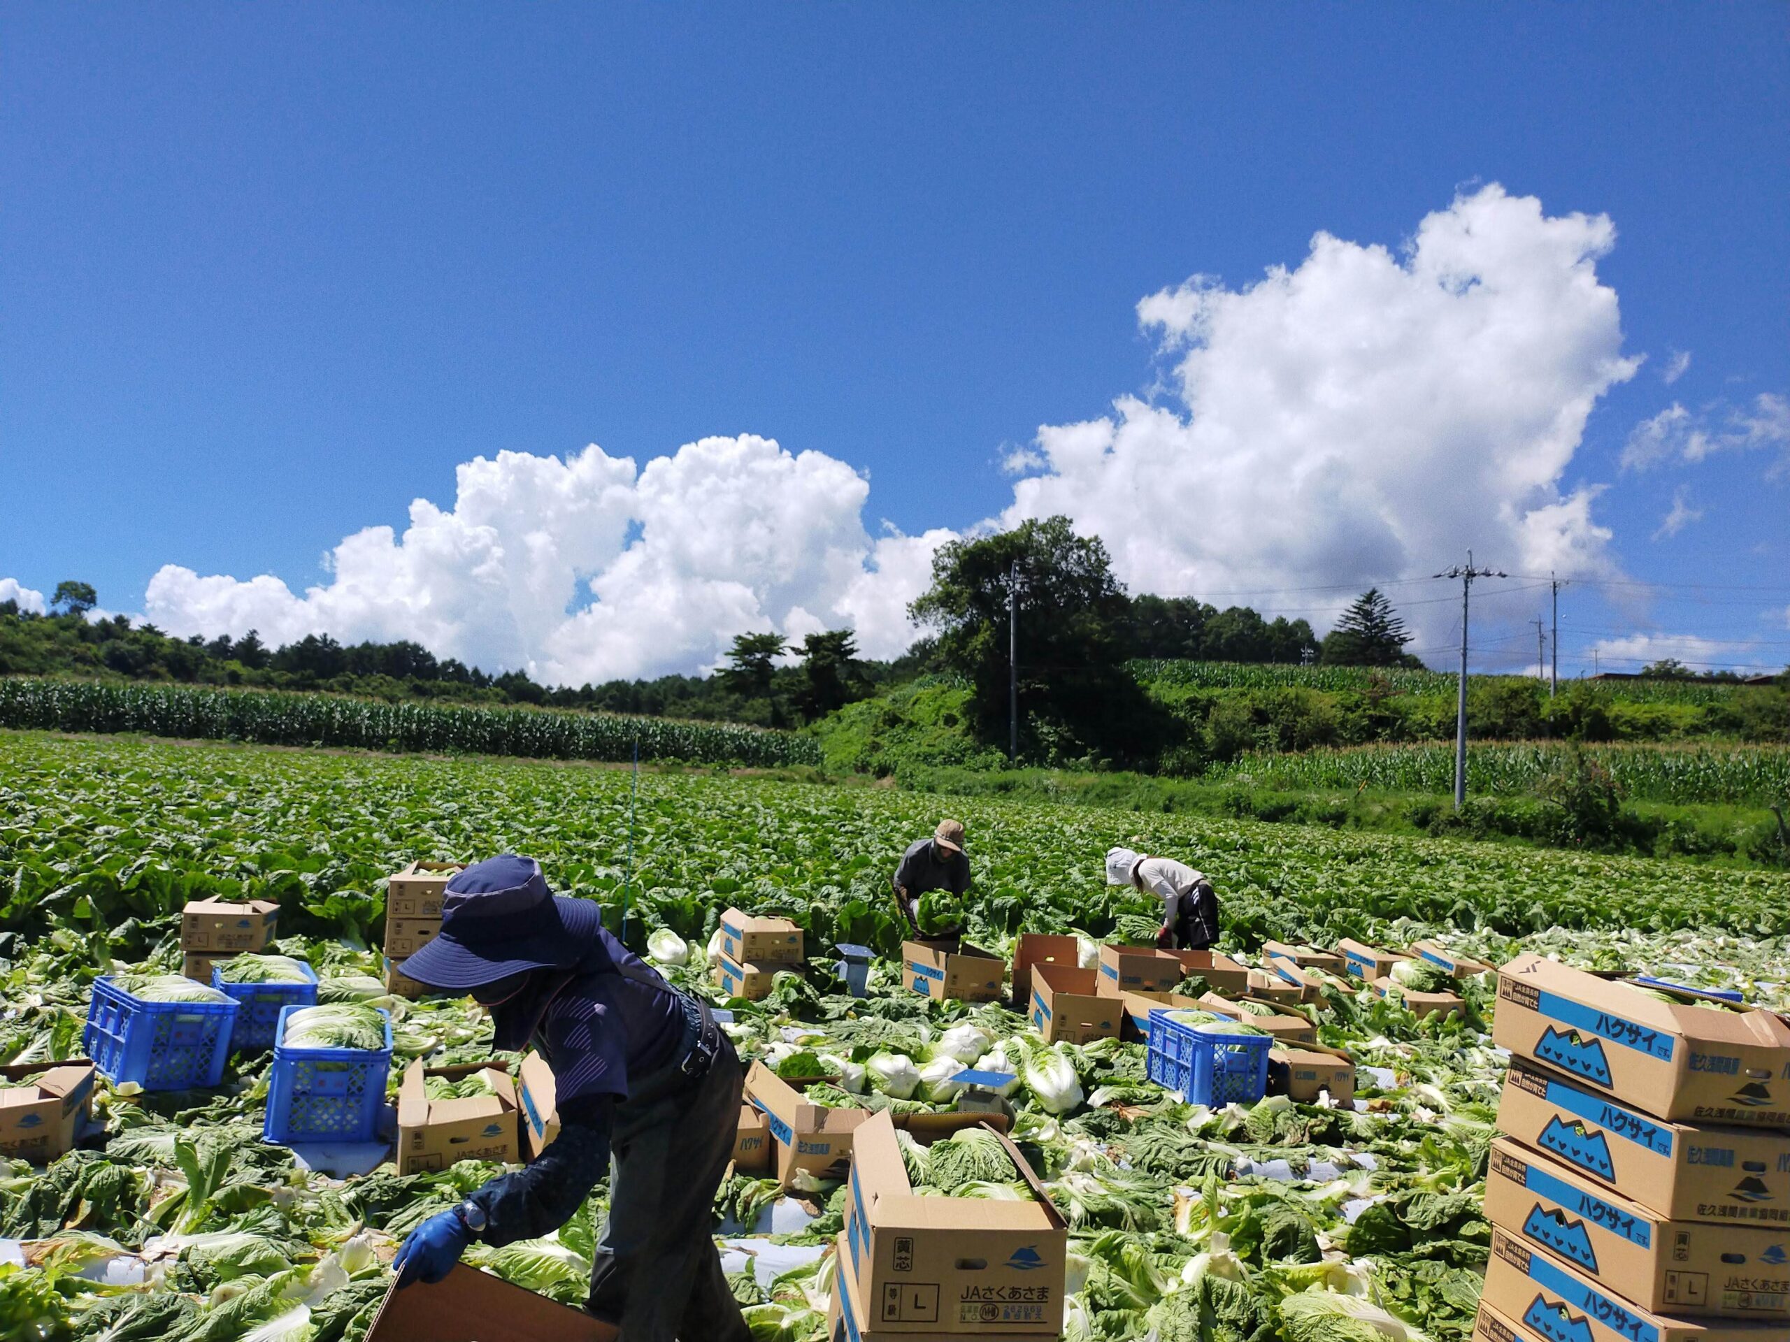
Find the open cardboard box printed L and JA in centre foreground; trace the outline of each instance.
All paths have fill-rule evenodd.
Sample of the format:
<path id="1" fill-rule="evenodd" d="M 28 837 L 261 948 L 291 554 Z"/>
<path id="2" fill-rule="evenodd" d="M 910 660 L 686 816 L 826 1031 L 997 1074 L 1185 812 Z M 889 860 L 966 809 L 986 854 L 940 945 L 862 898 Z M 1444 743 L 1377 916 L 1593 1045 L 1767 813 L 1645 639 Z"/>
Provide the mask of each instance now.
<path id="1" fill-rule="evenodd" d="M 1001 1142 L 1031 1188 L 1026 1202 L 918 1197 L 890 1115 L 857 1129 L 840 1276 L 854 1279 L 870 1328 L 904 1337 L 1061 1331 L 1069 1229 L 1019 1147 Z"/>

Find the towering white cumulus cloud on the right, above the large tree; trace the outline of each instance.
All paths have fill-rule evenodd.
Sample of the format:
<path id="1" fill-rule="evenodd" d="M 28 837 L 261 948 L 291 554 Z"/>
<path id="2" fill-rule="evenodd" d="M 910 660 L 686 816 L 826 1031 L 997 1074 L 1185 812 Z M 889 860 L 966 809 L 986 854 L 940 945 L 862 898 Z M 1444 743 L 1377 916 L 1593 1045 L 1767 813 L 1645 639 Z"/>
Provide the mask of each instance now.
<path id="1" fill-rule="evenodd" d="M 1430 574 L 1464 558 L 1611 569 L 1597 488 L 1566 471 L 1634 376 L 1597 277 L 1609 218 L 1498 186 L 1394 252 L 1319 233 L 1292 268 L 1153 293 L 1167 404 L 1040 429 L 1004 521 L 1069 514 L 1135 590 L 1271 590 Z"/>

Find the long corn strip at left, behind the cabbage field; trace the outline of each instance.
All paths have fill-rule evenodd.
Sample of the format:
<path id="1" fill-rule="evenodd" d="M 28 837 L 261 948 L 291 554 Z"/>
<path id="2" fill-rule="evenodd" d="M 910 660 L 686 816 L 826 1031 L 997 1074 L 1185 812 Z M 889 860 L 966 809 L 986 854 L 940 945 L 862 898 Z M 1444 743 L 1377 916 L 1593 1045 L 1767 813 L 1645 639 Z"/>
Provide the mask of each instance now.
<path id="1" fill-rule="evenodd" d="M 820 762 L 816 741 L 754 726 L 23 676 L 0 680 L 0 726 L 612 762 L 632 759 L 637 743 L 641 759 L 650 760 L 754 768 Z"/>

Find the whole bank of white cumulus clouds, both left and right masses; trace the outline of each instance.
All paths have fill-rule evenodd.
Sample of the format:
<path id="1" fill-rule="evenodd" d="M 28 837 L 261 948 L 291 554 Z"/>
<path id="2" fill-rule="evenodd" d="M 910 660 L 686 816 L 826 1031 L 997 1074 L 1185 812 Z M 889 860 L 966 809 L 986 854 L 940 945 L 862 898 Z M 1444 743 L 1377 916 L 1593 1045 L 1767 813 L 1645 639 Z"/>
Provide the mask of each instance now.
<path id="1" fill-rule="evenodd" d="M 1011 505 L 970 530 L 1067 514 L 1133 590 L 1162 594 L 1364 587 L 1468 546 L 1530 573 L 1607 571 L 1597 487 L 1563 481 L 1593 404 L 1640 365 L 1597 277 L 1613 242 L 1604 217 L 1548 218 L 1486 186 L 1398 252 L 1319 233 L 1255 285 L 1155 293 L 1138 320 L 1165 360 L 1158 394 L 1042 428 L 1010 458 Z M 596 446 L 499 453 L 460 467 L 453 510 L 417 499 L 403 535 L 347 537 L 303 596 L 166 565 L 145 614 L 268 642 L 415 639 L 555 684 L 711 666 L 763 628 L 850 624 L 890 657 L 954 533 L 872 535 L 868 499 L 847 463 L 750 435 L 644 469 Z"/>

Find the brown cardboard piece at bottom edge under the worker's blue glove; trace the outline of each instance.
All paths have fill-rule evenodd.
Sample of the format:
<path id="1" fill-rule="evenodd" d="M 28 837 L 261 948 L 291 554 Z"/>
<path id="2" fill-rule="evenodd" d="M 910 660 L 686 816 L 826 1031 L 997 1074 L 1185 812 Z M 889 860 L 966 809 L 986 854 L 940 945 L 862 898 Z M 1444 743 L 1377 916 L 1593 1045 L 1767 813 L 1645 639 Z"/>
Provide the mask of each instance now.
<path id="1" fill-rule="evenodd" d="M 616 1331 L 573 1310 L 455 1263 L 433 1287 L 397 1283 L 385 1294 L 367 1342 L 610 1342 Z"/>

